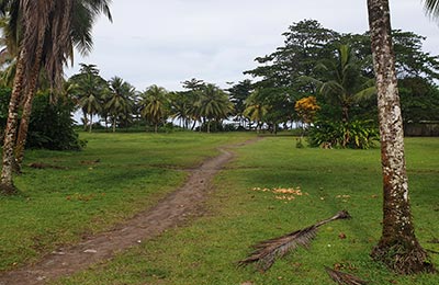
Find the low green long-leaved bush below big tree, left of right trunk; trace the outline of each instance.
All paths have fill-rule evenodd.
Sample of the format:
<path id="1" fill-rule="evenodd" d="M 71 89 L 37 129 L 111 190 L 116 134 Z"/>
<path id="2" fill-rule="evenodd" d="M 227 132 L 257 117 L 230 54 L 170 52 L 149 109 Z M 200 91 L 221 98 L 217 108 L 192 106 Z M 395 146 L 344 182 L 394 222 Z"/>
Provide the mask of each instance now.
<path id="1" fill-rule="evenodd" d="M 373 121 L 353 121 L 349 123 L 319 121 L 308 130 L 312 147 L 368 149 L 379 139 Z"/>

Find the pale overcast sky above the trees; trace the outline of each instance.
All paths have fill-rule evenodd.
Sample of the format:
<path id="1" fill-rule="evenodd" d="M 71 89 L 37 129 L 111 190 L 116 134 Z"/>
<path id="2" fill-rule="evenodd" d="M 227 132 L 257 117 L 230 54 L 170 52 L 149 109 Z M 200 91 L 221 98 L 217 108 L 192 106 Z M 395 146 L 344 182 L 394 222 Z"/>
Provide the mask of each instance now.
<path id="1" fill-rule="evenodd" d="M 425 15 L 421 0 L 390 5 L 392 27 L 426 36 L 424 50 L 439 55 L 439 21 Z M 92 52 L 76 55 L 67 77 L 85 62 L 138 91 L 151 84 L 177 91 L 191 78 L 227 88 L 251 79 L 243 71 L 282 46 L 293 23 L 312 19 L 340 33 L 368 30 L 367 0 L 113 0 L 111 11 L 113 23 L 97 21 Z"/>

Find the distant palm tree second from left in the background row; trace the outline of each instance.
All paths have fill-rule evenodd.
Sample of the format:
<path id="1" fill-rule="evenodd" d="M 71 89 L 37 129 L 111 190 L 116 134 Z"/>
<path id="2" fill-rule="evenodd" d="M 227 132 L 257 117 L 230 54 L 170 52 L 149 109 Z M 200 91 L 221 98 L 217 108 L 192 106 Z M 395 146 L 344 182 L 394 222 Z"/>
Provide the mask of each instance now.
<path id="1" fill-rule="evenodd" d="M 112 119 L 114 133 L 116 132 L 117 118 L 123 117 L 131 107 L 130 101 L 134 94 L 134 88 L 120 77 L 113 77 L 109 81 L 109 88 L 110 92 L 103 109 Z"/>

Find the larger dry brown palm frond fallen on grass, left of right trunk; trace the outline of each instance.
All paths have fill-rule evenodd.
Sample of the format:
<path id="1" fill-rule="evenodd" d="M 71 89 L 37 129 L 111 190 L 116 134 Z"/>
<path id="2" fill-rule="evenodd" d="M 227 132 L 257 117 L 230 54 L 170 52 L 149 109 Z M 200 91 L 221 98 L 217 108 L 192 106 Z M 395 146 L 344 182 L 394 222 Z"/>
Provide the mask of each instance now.
<path id="1" fill-rule="evenodd" d="M 300 246 L 308 248 L 311 241 L 317 235 L 318 227 L 336 219 L 348 218 L 350 218 L 349 213 L 340 210 L 334 217 L 318 221 L 307 228 L 293 231 L 280 238 L 261 241 L 252 247 L 255 251 L 247 259 L 238 262 L 238 266 L 256 263 L 258 270 L 266 272 L 273 265 L 277 258 L 284 256 L 288 252 L 295 250 Z"/>

